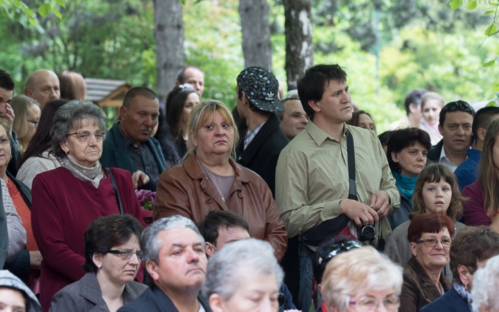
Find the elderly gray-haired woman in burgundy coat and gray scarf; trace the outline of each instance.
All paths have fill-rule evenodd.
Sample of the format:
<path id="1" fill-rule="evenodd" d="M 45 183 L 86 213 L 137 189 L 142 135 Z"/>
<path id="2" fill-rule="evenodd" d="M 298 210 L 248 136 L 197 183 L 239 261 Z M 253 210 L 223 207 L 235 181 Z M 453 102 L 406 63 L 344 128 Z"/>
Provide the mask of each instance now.
<path id="1" fill-rule="evenodd" d="M 106 121 L 94 103 L 62 105 L 50 132 L 61 166 L 33 180 L 31 224 L 44 258 L 40 281 L 44 311 L 49 310 L 55 293 L 85 275 L 83 234 L 92 220 L 131 214 L 142 223 L 130 172 L 100 166 Z M 142 279 L 140 272 L 137 278 Z"/>

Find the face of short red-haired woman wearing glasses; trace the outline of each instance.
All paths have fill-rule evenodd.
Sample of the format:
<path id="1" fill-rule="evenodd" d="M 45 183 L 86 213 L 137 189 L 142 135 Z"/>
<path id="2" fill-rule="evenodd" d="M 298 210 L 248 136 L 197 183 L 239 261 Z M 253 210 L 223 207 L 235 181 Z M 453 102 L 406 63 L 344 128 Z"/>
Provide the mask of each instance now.
<path id="1" fill-rule="evenodd" d="M 450 235 L 447 228 L 439 233 L 423 233 L 419 243 L 410 243 L 417 261 L 427 270 L 441 270 L 449 261 Z"/>

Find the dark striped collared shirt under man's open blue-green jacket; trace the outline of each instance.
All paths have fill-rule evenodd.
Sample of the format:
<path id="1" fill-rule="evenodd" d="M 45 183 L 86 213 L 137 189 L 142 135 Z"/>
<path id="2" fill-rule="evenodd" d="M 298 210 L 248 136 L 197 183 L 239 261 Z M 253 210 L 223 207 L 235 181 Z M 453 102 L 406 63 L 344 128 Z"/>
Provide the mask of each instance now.
<path id="1" fill-rule="evenodd" d="M 121 137 L 127 146 L 135 171 L 140 170 L 143 171 L 143 173 L 146 173 L 146 175 L 149 176 L 149 180 L 152 182 L 151 185 L 154 187 L 151 191 L 156 191 L 156 184 L 159 179 L 160 172 L 154 154 L 152 154 L 152 150 L 150 150 L 149 145 L 146 142 L 143 142 L 139 144 L 139 148 L 136 148 L 123 131 L 121 131 L 119 127 L 117 128 L 119 129 Z"/>

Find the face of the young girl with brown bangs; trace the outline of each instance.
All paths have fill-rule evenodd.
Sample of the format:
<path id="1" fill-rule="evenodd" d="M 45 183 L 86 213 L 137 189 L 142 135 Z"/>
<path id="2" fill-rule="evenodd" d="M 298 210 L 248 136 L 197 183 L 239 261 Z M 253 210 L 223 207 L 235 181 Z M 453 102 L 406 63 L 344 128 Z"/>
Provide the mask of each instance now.
<path id="1" fill-rule="evenodd" d="M 426 213 L 446 214 L 452 199 L 452 189 L 444 178 L 439 182 L 425 182 L 422 193 Z"/>

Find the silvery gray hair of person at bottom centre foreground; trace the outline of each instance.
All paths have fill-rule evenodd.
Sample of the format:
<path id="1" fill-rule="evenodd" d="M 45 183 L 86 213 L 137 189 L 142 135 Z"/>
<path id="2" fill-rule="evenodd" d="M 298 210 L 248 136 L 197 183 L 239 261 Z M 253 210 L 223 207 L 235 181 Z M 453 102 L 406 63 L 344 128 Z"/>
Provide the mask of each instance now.
<path id="1" fill-rule="evenodd" d="M 216 293 L 222 300 L 230 300 L 239 283 L 244 282 L 242 271 L 249 271 L 252 275 L 273 274 L 277 286 L 281 285 L 284 277 L 270 243 L 244 239 L 225 245 L 209 259 L 206 280 L 202 286 L 203 295 L 209 298 Z"/>

